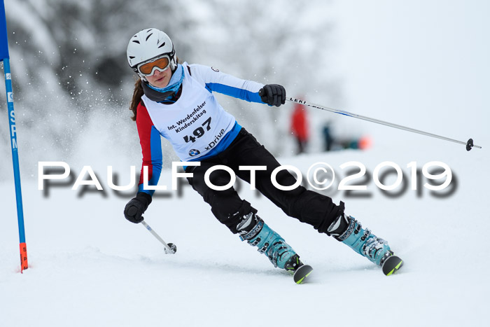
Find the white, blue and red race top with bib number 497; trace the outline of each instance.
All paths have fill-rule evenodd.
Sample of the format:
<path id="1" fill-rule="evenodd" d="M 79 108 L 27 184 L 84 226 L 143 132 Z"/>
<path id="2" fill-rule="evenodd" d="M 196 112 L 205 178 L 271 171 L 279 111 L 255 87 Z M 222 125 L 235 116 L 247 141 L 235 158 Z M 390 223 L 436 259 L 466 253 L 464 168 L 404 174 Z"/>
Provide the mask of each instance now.
<path id="1" fill-rule="evenodd" d="M 218 104 L 212 92 L 262 103 L 258 91 L 264 85 L 221 73 L 200 64 L 183 64 L 182 92 L 173 104 L 162 104 L 141 97 L 137 108 L 137 127 L 148 167 L 148 185 L 155 186 L 162 169 L 161 137 L 169 140 L 182 161 L 200 161 L 225 150 L 237 137 L 241 126 Z M 143 167 L 139 192 L 143 189 Z"/>

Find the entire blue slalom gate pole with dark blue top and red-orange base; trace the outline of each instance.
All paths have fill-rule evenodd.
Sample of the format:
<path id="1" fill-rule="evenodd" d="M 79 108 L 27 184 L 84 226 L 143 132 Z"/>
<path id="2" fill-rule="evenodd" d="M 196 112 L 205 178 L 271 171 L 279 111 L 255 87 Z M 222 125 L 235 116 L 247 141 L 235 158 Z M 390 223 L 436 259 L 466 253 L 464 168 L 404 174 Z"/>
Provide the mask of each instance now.
<path id="1" fill-rule="evenodd" d="M 13 111 L 12 75 L 8 55 L 7 21 L 5 5 L 1 1 L 0 8 L 0 61 L 3 61 L 5 88 L 7 91 L 8 123 L 10 126 L 10 146 L 12 148 L 13 176 L 15 181 L 15 199 L 17 200 L 17 218 L 19 223 L 20 240 L 20 272 L 27 269 L 27 246 L 25 244 L 24 210 L 22 209 L 22 190 L 20 188 L 19 155 L 17 151 L 17 129 L 15 127 L 15 112 Z"/>

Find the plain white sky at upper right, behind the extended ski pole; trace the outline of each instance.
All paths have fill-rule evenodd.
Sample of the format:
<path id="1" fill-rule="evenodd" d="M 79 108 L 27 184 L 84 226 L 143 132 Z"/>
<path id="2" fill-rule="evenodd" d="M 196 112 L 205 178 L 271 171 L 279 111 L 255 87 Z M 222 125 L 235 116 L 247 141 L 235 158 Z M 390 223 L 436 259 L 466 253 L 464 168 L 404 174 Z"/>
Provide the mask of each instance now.
<path id="1" fill-rule="evenodd" d="M 489 144 L 489 1 L 334 1 L 339 109 L 475 144 Z M 321 104 L 321 97 L 315 98 Z M 329 105 L 329 104 L 325 104 Z M 338 116 L 338 115 L 337 115 Z M 375 144 L 426 137 L 354 118 L 338 129 Z M 430 146 L 439 146 L 433 139 Z M 409 146 L 403 144 L 403 146 Z M 458 146 L 458 145 L 455 145 Z"/>

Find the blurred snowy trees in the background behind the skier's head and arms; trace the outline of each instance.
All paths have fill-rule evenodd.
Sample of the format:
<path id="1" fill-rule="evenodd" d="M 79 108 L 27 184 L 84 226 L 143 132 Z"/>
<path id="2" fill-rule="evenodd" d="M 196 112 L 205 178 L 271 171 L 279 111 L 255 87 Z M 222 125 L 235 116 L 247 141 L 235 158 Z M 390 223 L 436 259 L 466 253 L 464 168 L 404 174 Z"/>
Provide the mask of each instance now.
<path id="1" fill-rule="evenodd" d="M 30 130 L 20 142 L 33 155 L 72 153 L 94 110 L 116 121 L 105 127 L 108 138 L 111 128 L 127 129 L 118 119 L 132 124 L 127 106 L 134 73 L 125 50 L 130 37 L 147 27 L 167 32 L 179 57 L 190 63 L 281 83 L 291 96 L 337 92 L 325 77 L 332 31 L 325 1 L 5 0 L 5 5 L 15 102 L 22 109 L 18 124 Z M 281 154 L 287 107 L 221 101 Z M 8 148 L 2 144 L 0 151 Z"/>

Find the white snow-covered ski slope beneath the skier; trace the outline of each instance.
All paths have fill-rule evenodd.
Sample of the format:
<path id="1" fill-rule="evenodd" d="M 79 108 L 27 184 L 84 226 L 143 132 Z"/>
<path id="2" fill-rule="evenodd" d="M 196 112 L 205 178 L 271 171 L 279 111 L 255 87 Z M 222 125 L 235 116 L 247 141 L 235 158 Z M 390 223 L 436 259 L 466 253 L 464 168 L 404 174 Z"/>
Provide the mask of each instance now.
<path id="1" fill-rule="evenodd" d="M 302 172 L 314 162 L 328 162 L 339 174 L 344 162 L 362 162 L 372 173 L 389 160 L 407 173 L 404 179 L 408 162 L 421 167 L 438 160 L 451 167 L 457 187 L 450 197 L 437 198 L 426 189 L 417 197 L 407 188 L 390 198 L 372 180 L 369 198 L 333 195 L 404 258 L 405 266 L 392 277 L 285 216 L 248 184 L 240 194 L 314 267 L 306 284 L 294 284 L 240 242 L 188 186 L 180 197 L 155 199 L 146 212 L 153 229 L 178 246 L 176 254 L 166 255 L 142 225 L 125 221 L 127 199 L 109 188 L 106 197 L 100 191 L 77 197 L 69 187 L 52 188 L 43 197 L 31 181 L 23 186 L 30 267 L 20 274 L 13 185 L 3 184 L 2 204 L 9 205 L 3 206 L 0 230 L 0 326 L 248 326 L 250 319 L 255 326 L 374 326 L 384 320 L 398 326 L 476 326 L 490 305 L 484 170 L 489 156 L 438 140 L 430 145 L 281 159 Z M 100 176 L 105 179 L 104 172 Z M 170 185 L 169 172 L 160 184 Z"/>

